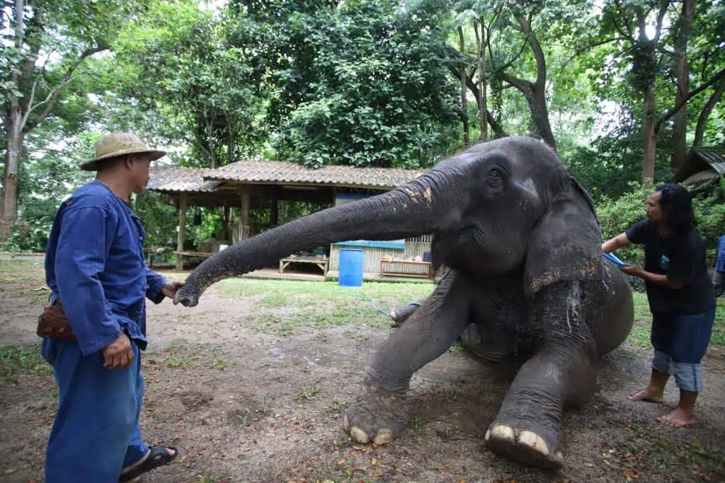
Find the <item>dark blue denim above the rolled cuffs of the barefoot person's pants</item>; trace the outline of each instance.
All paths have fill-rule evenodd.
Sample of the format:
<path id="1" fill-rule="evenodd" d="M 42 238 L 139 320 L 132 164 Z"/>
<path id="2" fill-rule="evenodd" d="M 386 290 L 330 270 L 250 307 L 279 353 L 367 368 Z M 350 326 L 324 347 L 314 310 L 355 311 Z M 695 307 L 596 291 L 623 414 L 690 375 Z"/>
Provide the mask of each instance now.
<path id="1" fill-rule="evenodd" d="M 673 361 L 700 364 L 710 344 L 715 308 L 701 314 L 653 314 L 652 345 Z"/>

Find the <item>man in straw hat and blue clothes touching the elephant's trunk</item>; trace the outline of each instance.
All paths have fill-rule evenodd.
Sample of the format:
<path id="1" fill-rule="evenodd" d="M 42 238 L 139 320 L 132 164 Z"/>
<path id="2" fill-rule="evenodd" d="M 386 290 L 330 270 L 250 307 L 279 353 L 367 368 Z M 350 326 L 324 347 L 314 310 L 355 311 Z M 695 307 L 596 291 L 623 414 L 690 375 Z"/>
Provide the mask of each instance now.
<path id="1" fill-rule="evenodd" d="M 164 154 L 130 133 L 104 136 L 96 157 L 81 165 L 97 171 L 96 179 L 57 211 L 46 283 L 75 337 L 46 337 L 41 345 L 59 388 L 46 483 L 126 481 L 178 455 L 146 446 L 138 428 L 145 299 L 161 303 L 183 285 L 146 266 L 146 232 L 130 209 L 131 193 L 144 189 L 149 164 Z"/>

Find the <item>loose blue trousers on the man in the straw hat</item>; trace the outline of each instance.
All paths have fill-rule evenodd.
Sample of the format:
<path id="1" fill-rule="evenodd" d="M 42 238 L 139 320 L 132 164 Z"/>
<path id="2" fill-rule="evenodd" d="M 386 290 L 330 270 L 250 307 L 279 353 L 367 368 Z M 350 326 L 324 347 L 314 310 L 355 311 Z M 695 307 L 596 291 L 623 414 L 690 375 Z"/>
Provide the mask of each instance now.
<path id="1" fill-rule="evenodd" d="M 123 466 L 149 448 L 138 416 L 144 397 L 141 351 L 133 362 L 105 369 L 99 351 L 80 353 L 77 343 L 43 339 L 41 355 L 54 369 L 58 409 L 46 449 L 46 483 L 116 483 Z"/>

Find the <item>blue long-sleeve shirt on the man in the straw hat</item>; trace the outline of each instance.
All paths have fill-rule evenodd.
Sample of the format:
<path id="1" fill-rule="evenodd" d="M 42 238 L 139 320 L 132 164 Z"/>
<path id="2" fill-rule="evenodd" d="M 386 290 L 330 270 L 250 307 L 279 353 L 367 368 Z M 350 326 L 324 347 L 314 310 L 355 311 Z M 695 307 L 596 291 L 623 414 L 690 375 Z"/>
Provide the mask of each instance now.
<path id="1" fill-rule="evenodd" d="M 60 298 L 83 355 L 122 332 L 146 348 L 146 297 L 167 280 L 146 266 L 146 231 L 127 203 L 97 180 L 59 207 L 46 248 L 51 303 Z"/>

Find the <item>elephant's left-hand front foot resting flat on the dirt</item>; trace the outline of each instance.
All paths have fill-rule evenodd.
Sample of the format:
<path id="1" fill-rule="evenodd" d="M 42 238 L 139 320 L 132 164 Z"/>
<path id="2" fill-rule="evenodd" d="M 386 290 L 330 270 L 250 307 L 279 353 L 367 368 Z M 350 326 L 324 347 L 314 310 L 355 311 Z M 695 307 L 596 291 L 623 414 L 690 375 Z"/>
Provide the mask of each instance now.
<path id="1" fill-rule="evenodd" d="M 343 427 L 353 440 L 384 445 L 399 437 L 407 424 L 405 392 L 365 387 L 345 411 Z"/>

